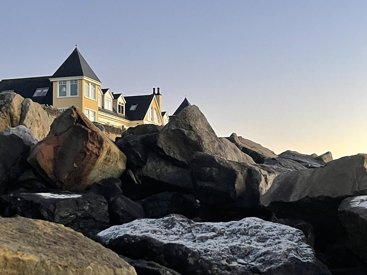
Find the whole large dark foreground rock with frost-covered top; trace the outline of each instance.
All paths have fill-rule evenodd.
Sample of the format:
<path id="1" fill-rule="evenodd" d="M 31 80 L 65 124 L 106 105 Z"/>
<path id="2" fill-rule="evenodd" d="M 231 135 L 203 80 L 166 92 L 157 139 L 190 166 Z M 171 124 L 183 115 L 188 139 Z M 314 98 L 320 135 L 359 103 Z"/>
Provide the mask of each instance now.
<path id="1" fill-rule="evenodd" d="M 97 235 L 106 247 L 181 274 L 330 274 L 304 234 L 255 217 L 196 223 L 183 216 L 138 219 Z"/>

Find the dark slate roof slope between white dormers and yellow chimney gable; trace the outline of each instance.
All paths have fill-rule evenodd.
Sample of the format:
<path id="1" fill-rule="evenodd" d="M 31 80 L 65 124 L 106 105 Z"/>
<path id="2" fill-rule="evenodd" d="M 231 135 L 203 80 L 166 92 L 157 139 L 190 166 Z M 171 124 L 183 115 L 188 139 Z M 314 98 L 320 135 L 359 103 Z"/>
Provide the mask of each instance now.
<path id="1" fill-rule="evenodd" d="M 126 100 L 125 115 L 128 120 L 143 120 L 149 109 L 154 95 L 124 96 Z M 135 110 L 130 111 L 132 104 L 138 104 Z"/>

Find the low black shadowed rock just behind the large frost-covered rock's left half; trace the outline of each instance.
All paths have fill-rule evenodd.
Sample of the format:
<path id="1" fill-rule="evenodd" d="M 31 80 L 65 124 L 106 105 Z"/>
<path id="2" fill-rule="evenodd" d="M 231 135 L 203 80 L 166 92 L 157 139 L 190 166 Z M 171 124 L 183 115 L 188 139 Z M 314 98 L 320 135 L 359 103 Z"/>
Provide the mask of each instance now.
<path id="1" fill-rule="evenodd" d="M 199 207 L 193 195 L 179 192 L 163 192 L 142 201 L 147 218 L 162 218 L 168 214 L 181 214 L 189 219 L 197 216 Z"/>

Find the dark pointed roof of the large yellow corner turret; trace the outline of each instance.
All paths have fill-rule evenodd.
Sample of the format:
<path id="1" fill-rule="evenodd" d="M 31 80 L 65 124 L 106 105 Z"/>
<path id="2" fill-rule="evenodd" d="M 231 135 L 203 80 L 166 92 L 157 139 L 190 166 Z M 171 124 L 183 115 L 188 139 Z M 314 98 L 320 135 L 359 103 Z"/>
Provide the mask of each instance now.
<path id="1" fill-rule="evenodd" d="M 73 76 L 86 76 L 101 82 L 77 48 L 66 58 L 51 78 Z"/>

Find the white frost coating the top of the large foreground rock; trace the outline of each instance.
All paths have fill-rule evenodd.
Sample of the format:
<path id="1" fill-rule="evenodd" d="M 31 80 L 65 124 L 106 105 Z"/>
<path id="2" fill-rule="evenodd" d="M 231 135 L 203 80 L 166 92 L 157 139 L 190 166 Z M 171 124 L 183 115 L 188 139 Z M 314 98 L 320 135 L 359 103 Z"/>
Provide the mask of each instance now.
<path id="1" fill-rule="evenodd" d="M 175 216 L 137 219 L 98 234 L 105 245 L 119 237 L 129 243 L 142 236 L 161 244 L 182 244 L 206 260 L 225 263 L 239 271 L 258 268 L 265 272 L 288 261 L 316 261 L 302 231 L 255 217 L 228 223 L 196 223 Z"/>

